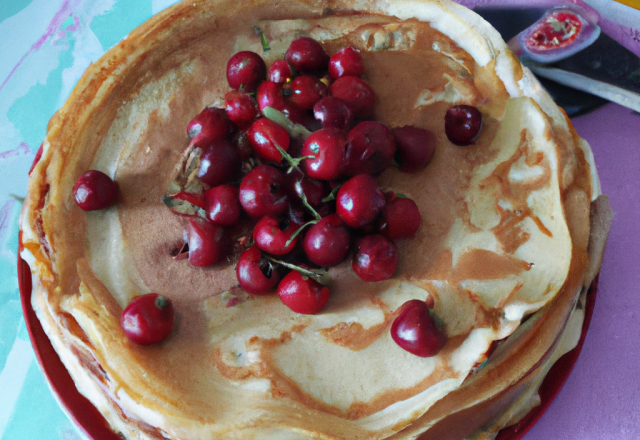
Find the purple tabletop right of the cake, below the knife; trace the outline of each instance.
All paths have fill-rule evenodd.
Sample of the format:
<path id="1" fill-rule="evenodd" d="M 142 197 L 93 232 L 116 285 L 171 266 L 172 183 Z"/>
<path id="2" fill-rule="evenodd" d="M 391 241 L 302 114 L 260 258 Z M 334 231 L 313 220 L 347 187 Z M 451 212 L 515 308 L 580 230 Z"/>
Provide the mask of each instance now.
<path id="1" fill-rule="evenodd" d="M 615 212 L 582 353 L 525 440 L 640 439 L 640 114 L 616 104 L 573 120 Z"/>

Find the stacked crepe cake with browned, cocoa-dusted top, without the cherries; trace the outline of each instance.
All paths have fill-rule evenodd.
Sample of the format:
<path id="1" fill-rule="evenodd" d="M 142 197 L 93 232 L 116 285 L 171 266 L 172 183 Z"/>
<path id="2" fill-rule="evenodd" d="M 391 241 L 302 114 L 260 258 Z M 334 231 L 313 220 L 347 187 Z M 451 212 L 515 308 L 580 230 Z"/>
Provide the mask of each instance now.
<path id="1" fill-rule="evenodd" d="M 316 315 L 246 294 L 235 261 L 202 269 L 170 258 L 184 220 L 161 202 L 189 143 L 184 127 L 223 101 L 230 56 L 251 50 L 269 65 L 301 35 L 329 54 L 357 48 L 374 118 L 436 137 L 423 171 L 377 178 L 423 219 L 397 242 L 393 278 L 332 268 Z M 483 115 L 473 145 L 444 134 L 454 104 Z M 72 188 L 88 169 L 115 180 L 117 205 L 80 210 Z M 604 246 L 590 224 L 594 207 L 606 210 L 599 196 L 588 144 L 499 34 L 455 3 L 188 1 L 92 64 L 52 118 L 22 256 L 53 346 L 125 438 L 482 438 L 535 406 L 552 362 L 577 341 L 580 295 Z M 176 325 L 137 346 L 119 319 L 148 292 L 171 298 Z M 447 343 L 421 358 L 389 327 L 404 302 L 429 296 Z"/>

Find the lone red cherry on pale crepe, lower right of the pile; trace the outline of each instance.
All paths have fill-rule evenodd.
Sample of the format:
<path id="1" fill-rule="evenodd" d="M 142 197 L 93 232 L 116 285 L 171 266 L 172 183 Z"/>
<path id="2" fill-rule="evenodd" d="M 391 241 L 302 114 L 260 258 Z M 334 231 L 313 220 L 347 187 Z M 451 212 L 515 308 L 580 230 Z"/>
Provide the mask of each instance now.
<path id="1" fill-rule="evenodd" d="M 437 355 L 446 336 L 436 327 L 424 301 L 412 299 L 402 305 L 402 312 L 391 324 L 391 337 L 401 348 L 420 357 Z"/>

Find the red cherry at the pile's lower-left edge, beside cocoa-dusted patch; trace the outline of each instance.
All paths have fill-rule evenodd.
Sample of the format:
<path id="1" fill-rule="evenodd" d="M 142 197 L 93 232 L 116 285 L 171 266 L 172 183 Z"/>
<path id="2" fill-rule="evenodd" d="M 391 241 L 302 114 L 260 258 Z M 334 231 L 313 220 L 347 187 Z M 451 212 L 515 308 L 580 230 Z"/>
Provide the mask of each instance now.
<path id="1" fill-rule="evenodd" d="M 185 232 L 189 244 L 189 263 L 192 266 L 210 266 L 228 250 L 229 240 L 224 229 L 205 219 L 190 218 Z"/>

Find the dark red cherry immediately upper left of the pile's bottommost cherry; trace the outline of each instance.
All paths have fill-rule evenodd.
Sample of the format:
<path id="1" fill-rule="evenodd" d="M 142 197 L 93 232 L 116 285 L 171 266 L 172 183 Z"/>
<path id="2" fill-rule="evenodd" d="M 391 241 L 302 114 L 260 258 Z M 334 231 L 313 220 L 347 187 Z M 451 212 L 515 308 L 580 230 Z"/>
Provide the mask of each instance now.
<path id="1" fill-rule="evenodd" d="M 278 271 L 262 255 L 258 246 L 251 246 L 240 255 L 236 265 L 236 277 L 240 287 L 252 295 L 269 292 L 280 279 Z"/>

